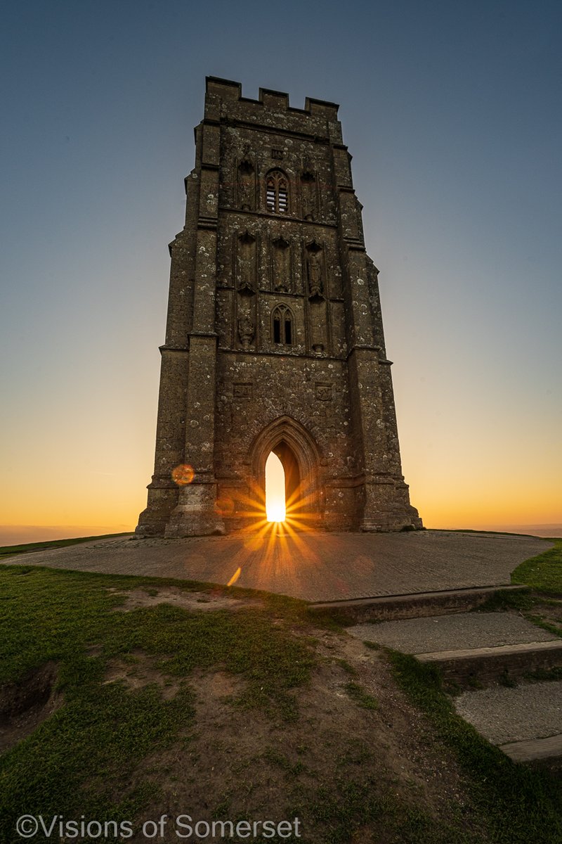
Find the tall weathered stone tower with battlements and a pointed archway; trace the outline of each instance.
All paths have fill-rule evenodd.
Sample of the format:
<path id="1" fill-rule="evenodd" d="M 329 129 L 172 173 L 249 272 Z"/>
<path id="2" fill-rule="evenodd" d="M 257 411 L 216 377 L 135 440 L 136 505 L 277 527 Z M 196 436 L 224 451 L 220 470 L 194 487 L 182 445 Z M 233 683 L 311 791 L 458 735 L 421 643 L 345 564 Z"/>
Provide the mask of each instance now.
<path id="1" fill-rule="evenodd" d="M 377 268 L 338 106 L 206 79 L 170 244 L 156 461 L 138 536 L 265 518 L 265 461 L 296 527 L 421 527 L 400 467 Z"/>

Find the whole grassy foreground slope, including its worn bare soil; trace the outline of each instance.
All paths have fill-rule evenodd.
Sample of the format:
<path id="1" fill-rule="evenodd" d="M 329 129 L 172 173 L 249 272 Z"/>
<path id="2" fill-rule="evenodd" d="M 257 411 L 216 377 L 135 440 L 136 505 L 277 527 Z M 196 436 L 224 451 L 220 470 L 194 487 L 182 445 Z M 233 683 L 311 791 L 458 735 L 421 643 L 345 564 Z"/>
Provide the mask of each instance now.
<path id="1" fill-rule="evenodd" d="M 516 576 L 562 592 L 561 548 Z M 562 841 L 559 775 L 480 738 L 435 671 L 306 603 L 10 560 L 0 606 L 0 841 L 22 840 L 22 814 L 128 841 L 163 814 L 158 841 L 219 841 L 219 821 L 242 823 L 231 841 Z M 185 815 L 199 837 L 176 835 Z"/>

